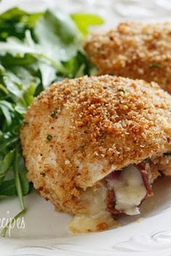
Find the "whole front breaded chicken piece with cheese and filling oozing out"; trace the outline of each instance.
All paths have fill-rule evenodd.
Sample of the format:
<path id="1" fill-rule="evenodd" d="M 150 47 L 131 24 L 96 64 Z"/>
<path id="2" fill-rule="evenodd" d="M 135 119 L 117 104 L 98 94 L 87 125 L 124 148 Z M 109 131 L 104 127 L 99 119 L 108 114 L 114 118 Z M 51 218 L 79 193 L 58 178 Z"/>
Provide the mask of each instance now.
<path id="1" fill-rule="evenodd" d="M 160 170 L 171 175 L 171 96 L 156 83 L 104 75 L 63 80 L 25 115 L 28 178 L 70 230 L 97 231 L 135 215 Z M 167 160 L 167 161 L 164 161 Z"/>

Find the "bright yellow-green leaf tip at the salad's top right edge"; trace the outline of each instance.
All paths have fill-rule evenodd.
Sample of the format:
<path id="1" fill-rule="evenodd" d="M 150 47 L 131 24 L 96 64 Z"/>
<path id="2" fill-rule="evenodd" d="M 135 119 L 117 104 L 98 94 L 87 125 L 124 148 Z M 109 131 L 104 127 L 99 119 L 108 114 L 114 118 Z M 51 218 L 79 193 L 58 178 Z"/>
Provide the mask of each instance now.
<path id="1" fill-rule="evenodd" d="M 101 17 L 89 13 L 74 13 L 71 17 L 83 36 L 88 34 L 88 28 L 90 26 L 104 24 L 104 20 Z"/>

